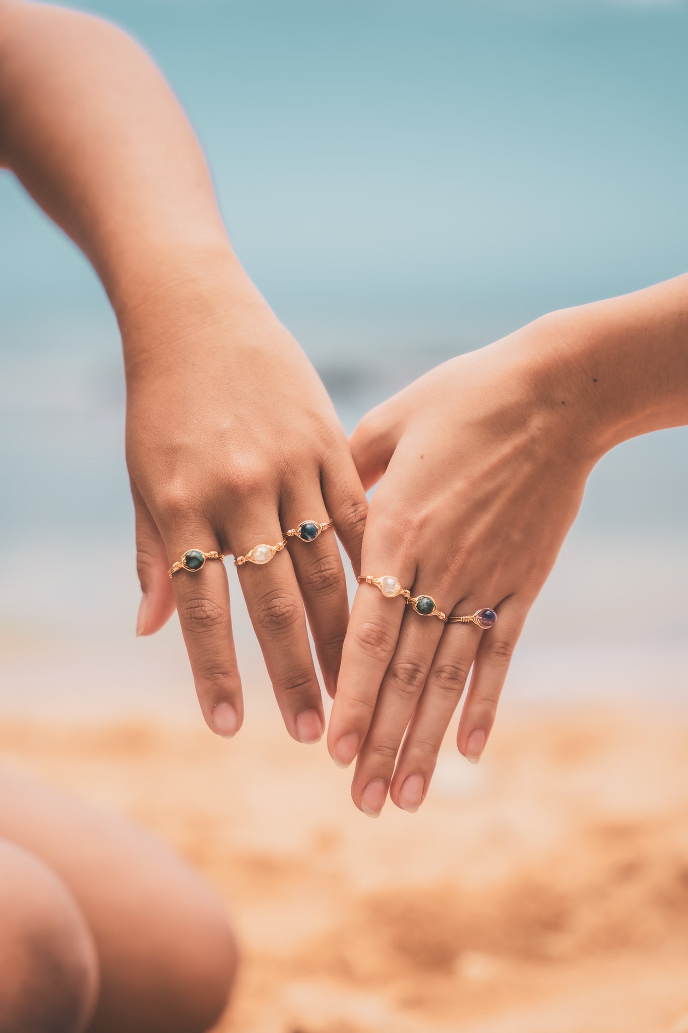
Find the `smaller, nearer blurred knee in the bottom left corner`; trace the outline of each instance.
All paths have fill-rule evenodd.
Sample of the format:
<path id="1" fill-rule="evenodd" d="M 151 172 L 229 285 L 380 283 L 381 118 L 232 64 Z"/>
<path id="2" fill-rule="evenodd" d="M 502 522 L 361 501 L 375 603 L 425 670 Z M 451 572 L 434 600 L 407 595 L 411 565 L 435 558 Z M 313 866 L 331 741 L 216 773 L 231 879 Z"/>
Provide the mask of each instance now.
<path id="1" fill-rule="evenodd" d="M 81 1033 L 98 995 L 96 952 L 66 886 L 0 842 L 0 1033 Z"/>

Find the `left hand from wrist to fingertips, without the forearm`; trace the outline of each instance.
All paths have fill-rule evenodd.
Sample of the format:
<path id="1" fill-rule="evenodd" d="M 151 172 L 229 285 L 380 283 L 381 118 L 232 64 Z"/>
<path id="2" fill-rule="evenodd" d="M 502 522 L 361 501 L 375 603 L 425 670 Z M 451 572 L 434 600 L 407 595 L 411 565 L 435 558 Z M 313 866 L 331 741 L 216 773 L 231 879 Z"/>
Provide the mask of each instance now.
<path id="1" fill-rule="evenodd" d="M 176 604 L 203 716 L 232 735 L 242 700 L 226 572 L 211 560 L 171 580 L 168 568 L 190 549 L 244 556 L 332 518 L 358 571 L 365 495 L 322 382 L 235 260 L 186 271 L 121 324 L 138 633 L 157 631 Z M 334 533 L 290 538 L 238 575 L 285 724 L 316 742 L 324 718 L 303 603 L 333 693 L 349 617 Z"/>

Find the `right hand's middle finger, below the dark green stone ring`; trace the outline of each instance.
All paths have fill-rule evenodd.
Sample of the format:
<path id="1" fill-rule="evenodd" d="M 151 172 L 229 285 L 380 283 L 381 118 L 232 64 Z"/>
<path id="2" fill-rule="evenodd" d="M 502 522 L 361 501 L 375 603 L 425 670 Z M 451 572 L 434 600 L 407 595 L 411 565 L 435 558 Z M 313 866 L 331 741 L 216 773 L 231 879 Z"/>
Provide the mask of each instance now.
<path id="1" fill-rule="evenodd" d="M 437 578 L 417 577 L 417 586 Z M 414 595 L 419 592 L 414 588 Z M 397 753 L 421 697 L 445 624 L 407 606 L 392 661 L 378 696 L 365 743 L 358 755 L 352 797 L 369 817 L 380 814 L 392 781 Z"/>

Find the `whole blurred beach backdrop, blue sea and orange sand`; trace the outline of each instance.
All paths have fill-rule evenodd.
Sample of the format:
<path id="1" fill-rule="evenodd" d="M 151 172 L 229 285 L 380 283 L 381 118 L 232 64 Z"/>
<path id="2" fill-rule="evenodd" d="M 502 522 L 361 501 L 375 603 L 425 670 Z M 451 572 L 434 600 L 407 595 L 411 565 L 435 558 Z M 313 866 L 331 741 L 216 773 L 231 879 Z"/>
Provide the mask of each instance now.
<path id="1" fill-rule="evenodd" d="M 351 430 L 554 308 L 688 269 L 688 5 L 98 0 L 208 155 L 235 248 Z M 135 640 L 114 320 L 0 174 L 0 753 L 157 828 L 245 945 L 242 1033 L 688 1031 L 688 431 L 594 471 L 478 770 L 370 822 L 247 697 L 206 732 Z"/>

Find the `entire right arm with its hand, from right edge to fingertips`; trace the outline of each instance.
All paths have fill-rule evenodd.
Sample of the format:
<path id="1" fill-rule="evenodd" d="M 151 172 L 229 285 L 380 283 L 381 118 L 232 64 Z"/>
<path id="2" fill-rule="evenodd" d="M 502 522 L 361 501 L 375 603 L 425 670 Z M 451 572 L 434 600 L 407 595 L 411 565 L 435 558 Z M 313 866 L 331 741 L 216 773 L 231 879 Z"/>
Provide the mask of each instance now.
<path id="1" fill-rule="evenodd" d="M 466 684 L 457 744 L 478 762 L 593 466 L 627 438 L 687 422 L 688 276 L 546 316 L 364 417 L 351 445 L 378 489 L 363 573 L 393 574 L 448 615 L 498 614 L 485 631 L 445 625 L 359 586 L 328 746 L 342 766 L 357 757 L 364 813 L 376 817 L 388 791 L 418 810 Z"/>

